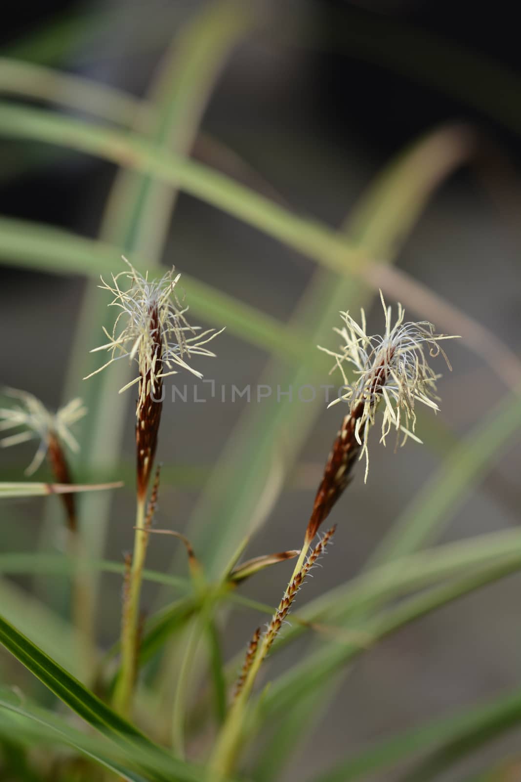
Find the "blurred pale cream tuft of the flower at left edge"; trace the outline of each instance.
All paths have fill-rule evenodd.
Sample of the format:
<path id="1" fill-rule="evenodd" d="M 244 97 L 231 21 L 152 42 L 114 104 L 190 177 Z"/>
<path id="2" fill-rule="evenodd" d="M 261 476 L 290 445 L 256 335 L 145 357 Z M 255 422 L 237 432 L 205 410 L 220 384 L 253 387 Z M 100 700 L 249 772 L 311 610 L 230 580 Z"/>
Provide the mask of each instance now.
<path id="1" fill-rule="evenodd" d="M 37 437 L 41 439 L 34 459 L 25 471 L 26 475 L 32 475 L 36 472 L 41 462 L 44 461 L 48 450 L 48 439 L 52 434 L 66 443 L 74 453 L 80 450 L 77 439 L 71 434 L 69 427 L 87 413 L 87 407 L 84 407 L 82 400 L 73 399 L 64 407 L 60 407 L 59 411 L 53 413 L 36 396 L 27 393 L 27 391 L 11 388 L 4 388 L 2 391 L 7 396 L 20 400 L 22 404 L 0 408 L 0 432 L 15 429 L 17 426 L 23 426 L 25 429 L 23 432 L 4 437 L 0 440 L 0 446 L 8 448 L 11 445 L 26 443 L 27 440 Z"/>

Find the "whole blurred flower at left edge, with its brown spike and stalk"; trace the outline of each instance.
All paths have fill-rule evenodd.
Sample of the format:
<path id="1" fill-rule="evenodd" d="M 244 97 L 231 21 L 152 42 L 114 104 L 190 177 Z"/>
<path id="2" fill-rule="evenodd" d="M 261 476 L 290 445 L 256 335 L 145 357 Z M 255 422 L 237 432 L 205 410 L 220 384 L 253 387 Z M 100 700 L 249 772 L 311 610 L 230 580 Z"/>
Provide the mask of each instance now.
<path id="1" fill-rule="evenodd" d="M 52 412 L 27 391 L 11 388 L 3 390 L 7 396 L 17 400 L 17 404 L 0 409 L 0 432 L 18 427 L 23 427 L 23 431 L 3 438 L 0 440 L 0 446 L 5 448 L 39 439 L 40 443 L 25 471 L 26 475 L 36 472 L 46 459 L 56 482 L 73 483 L 65 446 L 74 453 L 80 449 L 77 439 L 70 432 L 70 426 L 87 414 L 82 400 L 73 399 L 58 411 Z M 90 577 L 82 564 L 84 551 L 77 525 L 76 498 L 73 493 L 63 493 L 61 497 L 66 512 L 66 551 L 75 562 L 71 599 L 73 625 L 76 629 L 78 654 L 84 660 L 84 671 L 88 677 L 94 671 L 96 662 L 94 603 Z"/>

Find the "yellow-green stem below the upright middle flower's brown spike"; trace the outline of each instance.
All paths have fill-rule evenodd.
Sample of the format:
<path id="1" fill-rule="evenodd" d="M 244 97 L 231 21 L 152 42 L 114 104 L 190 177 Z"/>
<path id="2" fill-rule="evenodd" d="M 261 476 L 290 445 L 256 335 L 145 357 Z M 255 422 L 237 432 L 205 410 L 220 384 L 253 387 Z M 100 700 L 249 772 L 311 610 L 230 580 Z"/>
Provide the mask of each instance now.
<path id="1" fill-rule="evenodd" d="M 130 566 L 130 583 L 126 600 L 123 602 L 123 622 L 121 626 L 121 676 L 116 687 L 114 705 L 123 716 L 130 716 L 132 694 L 137 673 L 137 630 L 139 622 L 139 598 L 143 567 L 147 551 L 148 532 L 145 527 L 146 496 L 137 497 L 136 531 L 134 536 L 134 554 Z"/>

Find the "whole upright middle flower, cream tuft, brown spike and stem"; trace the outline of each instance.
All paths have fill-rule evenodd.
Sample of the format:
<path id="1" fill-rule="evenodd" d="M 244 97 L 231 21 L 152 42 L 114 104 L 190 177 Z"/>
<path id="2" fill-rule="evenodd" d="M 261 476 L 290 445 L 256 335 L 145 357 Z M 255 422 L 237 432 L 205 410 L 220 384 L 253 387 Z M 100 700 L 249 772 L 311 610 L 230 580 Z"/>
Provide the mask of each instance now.
<path id="1" fill-rule="evenodd" d="M 148 275 L 142 277 L 126 258 L 123 260 L 128 270 L 112 274 L 112 282 L 109 283 L 102 278 L 100 285 L 113 296 L 109 306 L 120 310 L 112 334 L 103 329 L 109 342 L 95 348 L 95 351 L 108 352 L 109 361 L 87 377 L 96 375 L 121 358 L 137 363 L 137 377 L 120 389 L 122 393 L 138 384 L 136 529 L 127 604 L 123 607 L 121 675 L 115 695 L 116 708 L 128 716 L 137 673 L 139 601 L 148 543 L 146 498 L 161 421 L 163 378 L 176 374 L 180 369 L 202 377 L 188 361 L 194 356 L 214 356 L 206 345 L 220 332 L 213 328 L 202 332 L 201 328 L 188 324 L 185 317 L 187 307 L 182 306 L 176 291 L 180 274 L 174 276 L 172 269 L 161 279 L 149 281 Z M 121 278 L 129 285 L 122 287 Z"/>

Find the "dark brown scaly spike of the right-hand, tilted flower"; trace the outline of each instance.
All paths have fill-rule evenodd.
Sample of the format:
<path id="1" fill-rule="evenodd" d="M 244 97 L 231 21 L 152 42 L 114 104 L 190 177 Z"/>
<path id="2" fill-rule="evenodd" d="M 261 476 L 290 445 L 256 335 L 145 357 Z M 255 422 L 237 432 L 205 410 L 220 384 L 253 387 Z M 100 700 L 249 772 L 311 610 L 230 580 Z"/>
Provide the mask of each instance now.
<path id="1" fill-rule="evenodd" d="M 370 396 L 380 391 L 387 382 L 386 366 L 391 361 L 393 354 L 394 350 L 390 350 L 387 357 L 380 364 L 380 368 L 376 371 L 373 382 L 367 392 Z M 322 480 L 316 492 L 308 528 L 305 532 L 305 543 L 308 545 L 316 536 L 319 526 L 330 515 L 331 508 L 333 508 L 351 481 L 351 470 L 362 448 L 355 437 L 355 429 L 356 422 L 359 418 L 362 418 L 363 411 L 364 400 L 360 400 L 344 416 L 341 429 L 337 432 L 337 437 L 324 468 Z"/>

